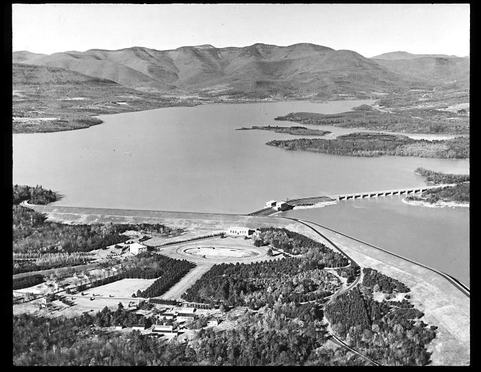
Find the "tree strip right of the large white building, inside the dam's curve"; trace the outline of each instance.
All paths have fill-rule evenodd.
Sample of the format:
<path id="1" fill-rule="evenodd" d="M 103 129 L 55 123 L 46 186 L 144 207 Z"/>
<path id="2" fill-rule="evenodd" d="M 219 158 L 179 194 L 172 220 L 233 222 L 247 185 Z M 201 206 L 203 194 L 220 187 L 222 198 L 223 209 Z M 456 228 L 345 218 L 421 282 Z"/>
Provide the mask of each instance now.
<path id="1" fill-rule="evenodd" d="M 334 252 L 326 245 L 305 235 L 298 234 L 284 228 L 260 228 L 260 234 L 254 241 L 255 245 L 270 244 L 274 248 L 282 249 L 289 254 L 304 254 L 303 265 L 313 264 L 313 267 L 342 267 L 349 264 L 349 260 L 342 254 Z"/>

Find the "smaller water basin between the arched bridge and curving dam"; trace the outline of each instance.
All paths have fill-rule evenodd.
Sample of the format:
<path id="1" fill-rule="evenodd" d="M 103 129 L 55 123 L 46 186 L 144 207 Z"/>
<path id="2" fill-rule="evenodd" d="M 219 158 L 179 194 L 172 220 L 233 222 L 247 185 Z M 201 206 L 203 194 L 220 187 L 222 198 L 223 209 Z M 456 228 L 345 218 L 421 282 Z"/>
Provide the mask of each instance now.
<path id="1" fill-rule="evenodd" d="M 410 206 L 404 196 L 289 210 L 306 219 L 443 271 L 469 286 L 469 208 Z"/>

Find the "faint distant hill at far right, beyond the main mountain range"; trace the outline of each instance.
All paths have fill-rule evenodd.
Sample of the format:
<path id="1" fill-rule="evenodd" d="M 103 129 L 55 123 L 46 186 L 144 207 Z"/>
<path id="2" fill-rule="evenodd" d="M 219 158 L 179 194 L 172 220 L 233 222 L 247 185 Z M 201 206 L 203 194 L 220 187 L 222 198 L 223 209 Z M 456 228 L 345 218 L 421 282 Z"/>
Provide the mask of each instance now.
<path id="1" fill-rule="evenodd" d="M 423 57 L 413 59 L 373 59 L 378 65 L 405 77 L 427 83 L 447 84 L 462 82 L 469 86 L 469 58 Z"/>

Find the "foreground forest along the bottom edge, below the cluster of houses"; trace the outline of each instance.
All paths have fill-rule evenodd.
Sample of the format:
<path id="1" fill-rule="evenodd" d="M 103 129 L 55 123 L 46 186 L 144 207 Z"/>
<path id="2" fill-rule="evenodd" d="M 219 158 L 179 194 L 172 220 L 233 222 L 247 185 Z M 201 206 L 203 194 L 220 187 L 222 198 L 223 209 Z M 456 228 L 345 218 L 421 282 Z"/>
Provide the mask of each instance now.
<path id="1" fill-rule="evenodd" d="M 292 318 L 295 314 L 304 320 Z M 304 315 L 303 315 L 304 314 Z M 143 365 L 362 365 L 344 349 L 318 349 L 324 333 L 311 305 L 274 304 L 247 311 L 228 331 L 203 330 L 190 344 L 165 342 L 137 331 L 122 334 L 98 325 L 131 320 L 119 307 L 95 316 L 43 318 L 13 316 L 13 364 L 67 366 Z M 124 320 L 125 319 L 125 320 Z"/>

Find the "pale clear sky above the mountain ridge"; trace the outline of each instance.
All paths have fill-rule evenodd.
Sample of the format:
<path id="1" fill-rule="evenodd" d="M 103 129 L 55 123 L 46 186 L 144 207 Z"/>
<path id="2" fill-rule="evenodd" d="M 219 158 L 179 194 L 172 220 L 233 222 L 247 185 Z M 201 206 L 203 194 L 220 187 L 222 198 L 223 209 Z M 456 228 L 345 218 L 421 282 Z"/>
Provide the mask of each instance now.
<path id="1" fill-rule="evenodd" d="M 313 43 L 366 57 L 469 55 L 469 4 L 12 4 L 12 49 Z"/>

